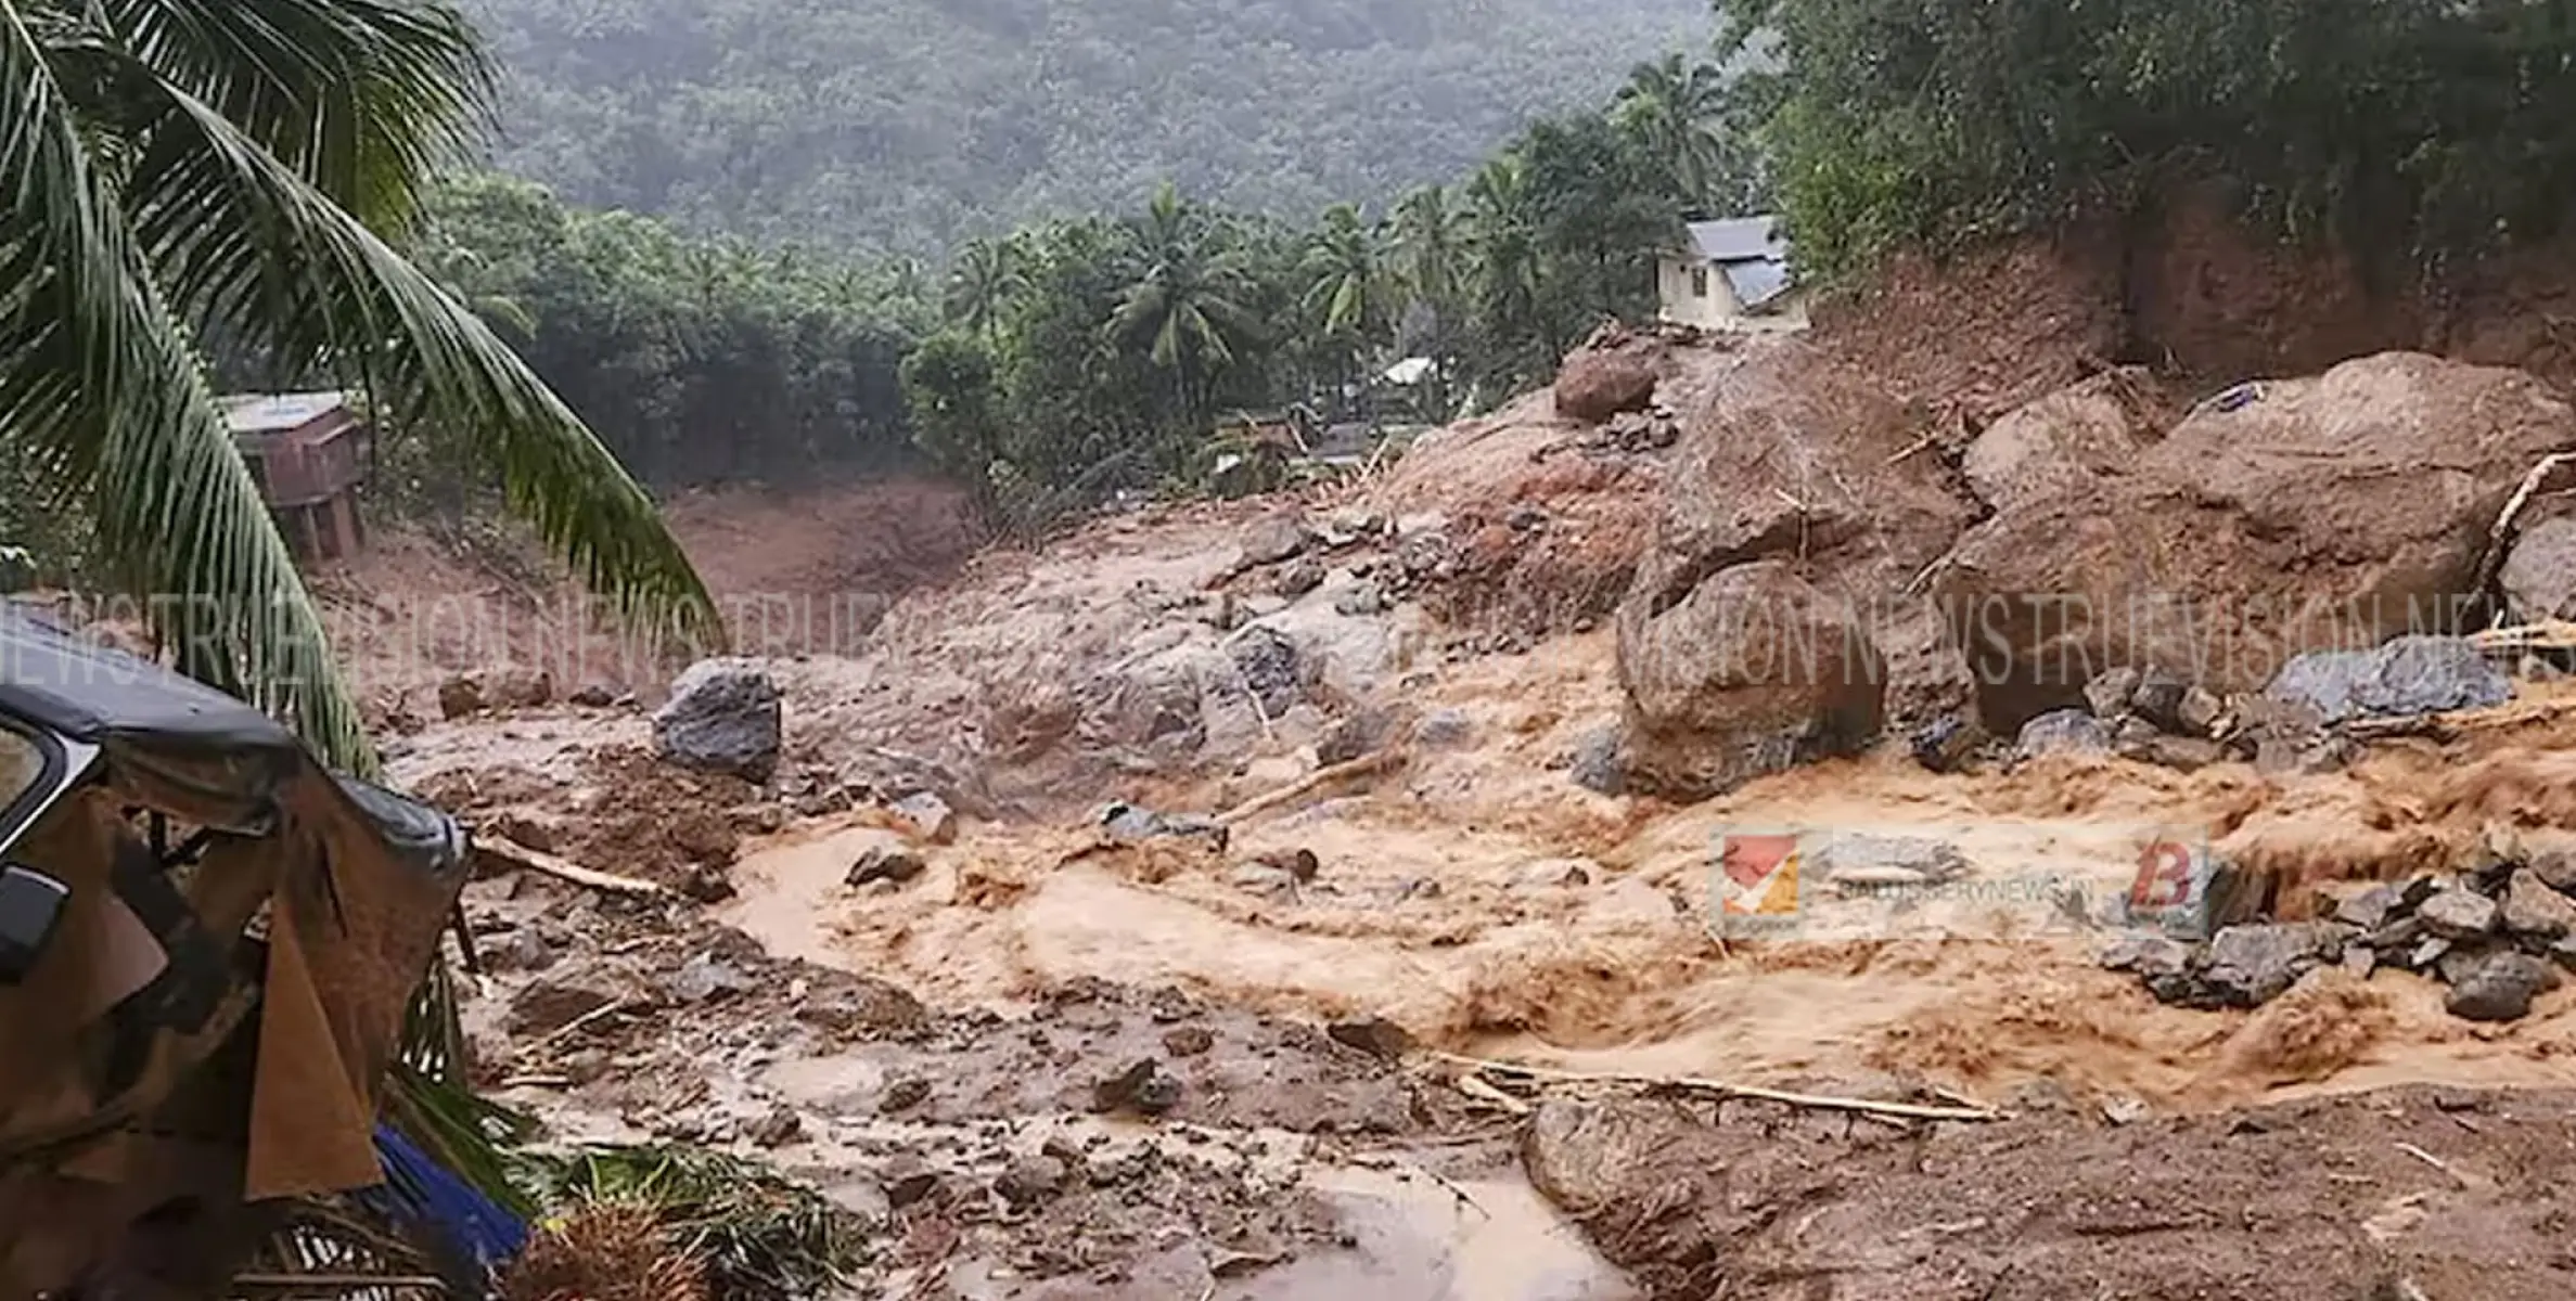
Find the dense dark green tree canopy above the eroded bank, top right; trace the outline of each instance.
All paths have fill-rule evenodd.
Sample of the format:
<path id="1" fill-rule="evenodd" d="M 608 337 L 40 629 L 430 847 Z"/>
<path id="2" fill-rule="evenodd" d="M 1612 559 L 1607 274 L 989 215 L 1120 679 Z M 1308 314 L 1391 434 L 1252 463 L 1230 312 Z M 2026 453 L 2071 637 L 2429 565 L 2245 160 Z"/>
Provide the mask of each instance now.
<path id="1" fill-rule="evenodd" d="M 2576 13 L 2527 0 L 1739 0 L 1739 88 L 1801 255 L 2151 198 L 2177 167 L 2372 255 L 2548 237 L 2576 198 Z"/>

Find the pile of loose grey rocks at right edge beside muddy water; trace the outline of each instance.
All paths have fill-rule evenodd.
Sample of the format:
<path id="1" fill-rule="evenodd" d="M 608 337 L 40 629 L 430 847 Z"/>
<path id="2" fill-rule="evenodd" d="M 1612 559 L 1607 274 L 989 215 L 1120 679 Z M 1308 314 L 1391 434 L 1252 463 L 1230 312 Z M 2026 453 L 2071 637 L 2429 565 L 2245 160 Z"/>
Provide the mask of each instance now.
<path id="1" fill-rule="evenodd" d="M 2519 1020 L 2576 969 L 2576 837 L 2458 876 L 2378 884 L 2331 917 L 2231 925 L 2202 945 L 2164 935 L 2115 943 L 2102 964 L 2136 971 L 2161 1002 L 2262 1007 L 2308 971 L 2416 971 L 2450 987 L 2463 1020 Z"/>

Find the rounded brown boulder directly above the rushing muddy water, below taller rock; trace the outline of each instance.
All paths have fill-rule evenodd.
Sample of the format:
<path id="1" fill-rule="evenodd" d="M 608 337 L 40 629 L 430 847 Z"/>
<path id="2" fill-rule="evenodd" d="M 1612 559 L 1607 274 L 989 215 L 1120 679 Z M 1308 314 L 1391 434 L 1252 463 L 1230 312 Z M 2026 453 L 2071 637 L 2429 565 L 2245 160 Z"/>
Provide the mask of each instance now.
<path id="1" fill-rule="evenodd" d="M 1628 778 L 1677 796 L 1855 752 L 1880 729 L 1878 647 L 1785 559 L 1728 567 L 1669 608 L 1631 600 L 1618 667 Z"/>

